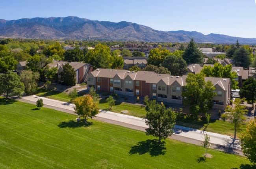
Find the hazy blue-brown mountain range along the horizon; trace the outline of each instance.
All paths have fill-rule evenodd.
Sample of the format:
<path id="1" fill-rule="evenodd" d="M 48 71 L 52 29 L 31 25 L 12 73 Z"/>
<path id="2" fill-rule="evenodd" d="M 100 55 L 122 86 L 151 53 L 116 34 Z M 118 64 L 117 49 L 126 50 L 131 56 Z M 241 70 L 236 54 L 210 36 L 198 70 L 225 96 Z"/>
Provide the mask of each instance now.
<path id="1" fill-rule="evenodd" d="M 132 22 L 108 22 L 68 17 L 0 19 L 0 38 L 97 39 L 146 42 L 189 42 L 256 44 L 256 38 L 209 34 L 196 31 L 158 31 Z"/>

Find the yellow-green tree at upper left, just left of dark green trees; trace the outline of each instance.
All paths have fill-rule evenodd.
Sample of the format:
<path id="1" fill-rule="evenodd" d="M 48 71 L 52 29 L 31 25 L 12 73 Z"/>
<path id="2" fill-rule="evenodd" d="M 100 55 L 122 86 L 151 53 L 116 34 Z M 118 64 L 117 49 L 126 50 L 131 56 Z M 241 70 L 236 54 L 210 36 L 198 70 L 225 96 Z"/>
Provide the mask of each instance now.
<path id="1" fill-rule="evenodd" d="M 62 49 L 59 42 L 56 42 L 53 45 L 49 45 L 43 50 L 44 55 L 48 57 L 53 55 L 58 55 L 61 59 L 63 59 L 63 53 L 64 53 L 64 50 Z"/>

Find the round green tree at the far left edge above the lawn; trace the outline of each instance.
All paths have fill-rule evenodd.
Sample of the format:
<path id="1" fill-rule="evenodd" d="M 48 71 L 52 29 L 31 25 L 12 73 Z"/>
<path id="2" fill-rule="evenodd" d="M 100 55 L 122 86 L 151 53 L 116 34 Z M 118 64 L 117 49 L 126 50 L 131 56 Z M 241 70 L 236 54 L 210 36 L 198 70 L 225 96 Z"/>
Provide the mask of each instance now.
<path id="1" fill-rule="evenodd" d="M 24 84 L 20 82 L 20 76 L 7 71 L 6 74 L 0 75 L 0 96 L 4 94 L 6 101 L 11 96 L 21 96 L 24 91 Z"/>

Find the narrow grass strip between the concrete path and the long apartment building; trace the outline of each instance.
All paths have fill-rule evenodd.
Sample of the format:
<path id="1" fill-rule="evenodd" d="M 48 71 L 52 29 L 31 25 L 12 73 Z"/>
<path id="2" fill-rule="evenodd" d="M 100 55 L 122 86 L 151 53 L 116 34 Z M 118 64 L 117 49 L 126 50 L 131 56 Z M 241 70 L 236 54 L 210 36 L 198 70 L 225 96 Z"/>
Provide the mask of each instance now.
<path id="1" fill-rule="evenodd" d="M 45 92 L 44 89 L 38 89 L 37 96 L 43 96 L 46 98 L 51 98 L 55 100 L 60 100 L 63 102 L 69 102 L 69 97 L 67 93 L 61 93 L 59 91 L 49 91 Z M 98 100 L 98 107 L 100 109 L 107 109 L 108 103 L 106 103 L 105 99 Z M 128 110 L 127 115 L 131 116 L 136 116 L 143 118 L 146 115 L 146 110 L 145 107 L 143 106 L 138 106 L 138 105 L 132 105 L 132 104 L 125 104 L 121 102 L 116 102 L 116 105 L 112 107 L 111 111 L 116 112 L 116 113 L 121 113 L 122 110 Z M 207 124 L 206 118 L 202 118 L 200 121 L 193 120 L 193 118 L 190 118 L 188 115 L 184 116 L 180 120 L 176 121 L 177 125 L 181 125 L 184 127 L 190 127 L 193 129 L 198 129 L 198 130 L 205 130 L 205 131 L 210 131 L 213 133 L 219 133 L 219 134 L 225 134 L 229 136 L 234 136 L 234 125 L 230 124 L 228 122 L 224 122 L 222 120 L 210 120 L 210 125 L 208 125 L 207 128 L 205 128 L 205 125 Z M 240 136 L 240 134 L 245 131 L 246 125 L 241 125 L 241 129 L 237 131 L 237 137 Z"/>

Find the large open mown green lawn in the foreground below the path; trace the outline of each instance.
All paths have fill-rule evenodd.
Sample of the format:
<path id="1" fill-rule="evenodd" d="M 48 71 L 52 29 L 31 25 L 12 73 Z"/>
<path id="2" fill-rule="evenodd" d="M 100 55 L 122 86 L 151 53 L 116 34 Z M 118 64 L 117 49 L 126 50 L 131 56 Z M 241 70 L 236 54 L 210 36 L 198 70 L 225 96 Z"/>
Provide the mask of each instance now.
<path id="1" fill-rule="evenodd" d="M 219 169 L 250 166 L 245 157 L 152 136 L 19 101 L 0 99 L 0 168 Z"/>

